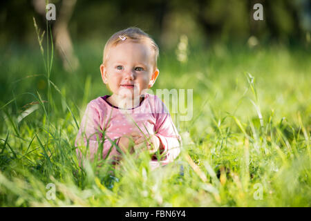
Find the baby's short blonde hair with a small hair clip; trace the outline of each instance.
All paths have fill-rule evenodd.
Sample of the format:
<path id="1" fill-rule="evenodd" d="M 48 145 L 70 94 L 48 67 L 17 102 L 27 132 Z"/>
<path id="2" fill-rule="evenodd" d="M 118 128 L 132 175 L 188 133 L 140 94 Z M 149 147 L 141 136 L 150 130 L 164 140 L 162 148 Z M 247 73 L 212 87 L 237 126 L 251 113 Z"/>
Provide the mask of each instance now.
<path id="1" fill-rule="evenodd" d="M 126 28 L 124 30 L 120 30 L 118 32 L 115 32 L 109 40 L 106 42 L 106 45 L 104 47 L 104 53 L 102 58 L 102 64 L 106 64 L 106 60 L 108 59 L 108 52 L 113 46 L 117 46 L 118 44 L 122 44 L 125 41 L 128 40 L 147 44 L 148 46 L 151 46 L 151 50 L 153 50 L 153 56 L 154 56 L 154 68 L 157 66 L 157 60 L 159 56 L 159 47 L 156 44 L 155 41 L 143 30 L 136 27 L 130 27 Z"/>

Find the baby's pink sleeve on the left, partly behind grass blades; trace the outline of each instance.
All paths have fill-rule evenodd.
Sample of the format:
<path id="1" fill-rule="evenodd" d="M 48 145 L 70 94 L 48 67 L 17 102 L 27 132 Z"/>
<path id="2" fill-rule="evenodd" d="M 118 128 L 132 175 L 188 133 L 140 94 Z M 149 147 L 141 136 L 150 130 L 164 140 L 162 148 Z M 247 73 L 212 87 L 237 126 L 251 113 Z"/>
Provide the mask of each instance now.
<path id="1" fill-rule="evenodd" d="M 84 116 L 82 117 L 82 122 L 80 124 L 79 132 L 77 134 L 77 138 L 75 140 L 75 146 L 88 146 L 88 153 L 86 157 L 88 159 L 93 160 L 95 154 L 102 142 L 104 141 L 102 157 L 105 158 L 106 155 L 109 153 L 110 149 L 111 152 L 109 157 L 114 155 L 120 155 L 117 152 L 115 146 L 112 146 L 111 142 L 106 139 L 103 140 L 103 133 L 102 128 L 100 126 L 100 113 L 96 108 L 95 104 L 89 103 L 86 107 L 86 111 Z M 111 147 L 112 146 L 112 147 Z M 79 148 L 76 149 L 77 156 L 79 160 L 82 159 L 82 153 Z M 100 154 L 99 154 L 100 158 Z"/>

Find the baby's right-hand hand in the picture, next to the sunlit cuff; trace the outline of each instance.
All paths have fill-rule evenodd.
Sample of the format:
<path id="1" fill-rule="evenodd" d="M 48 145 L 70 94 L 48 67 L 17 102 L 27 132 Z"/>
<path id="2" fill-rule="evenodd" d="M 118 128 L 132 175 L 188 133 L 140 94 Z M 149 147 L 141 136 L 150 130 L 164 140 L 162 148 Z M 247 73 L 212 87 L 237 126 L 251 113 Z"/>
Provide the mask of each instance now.
<path id="1" fill-rule="evenodd" d="M 162 147 L 159 137 L 154 134 L 142 135 L 141 133 L 133 132 L 131 135 L 134 137 L 135 146 L 133 147 L 135 152 L 138 150 L 144 150 L 147 146 L 150 154 L 156 153 L 159 148 Z"/>

